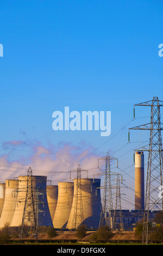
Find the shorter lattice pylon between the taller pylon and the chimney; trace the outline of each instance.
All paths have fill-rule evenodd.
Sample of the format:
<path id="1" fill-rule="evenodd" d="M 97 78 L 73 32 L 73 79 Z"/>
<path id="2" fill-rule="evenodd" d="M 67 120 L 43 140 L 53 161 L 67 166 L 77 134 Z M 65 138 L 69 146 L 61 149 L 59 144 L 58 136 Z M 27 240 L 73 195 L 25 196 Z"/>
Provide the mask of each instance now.
<path id="1" fill-rule="evenodd" d="M 112 220 L 112 230 L 124 230 L 123 216 L 122 216 L 122 207 L 121 207 L 121 185 L 120 185 L 120 175 L 117 174 L 116 178 L 116 202 L 114 216 Z M 122 180 L 122 175 L 121 175 Z M 122 183 L 122 181 L 121 181 Z"/>

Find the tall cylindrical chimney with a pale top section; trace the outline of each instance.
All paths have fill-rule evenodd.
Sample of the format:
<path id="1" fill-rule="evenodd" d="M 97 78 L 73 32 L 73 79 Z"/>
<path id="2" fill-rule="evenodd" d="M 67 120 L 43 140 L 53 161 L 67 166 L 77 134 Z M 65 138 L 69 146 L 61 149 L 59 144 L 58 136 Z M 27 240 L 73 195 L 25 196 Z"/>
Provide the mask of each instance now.
<path id="1" fill-rule="evenodd" d="M 144 188 L 144 155 L 143 152 L 136 151 L 135 154 L 135 210 L 145 208 L 145 188 Z"/>

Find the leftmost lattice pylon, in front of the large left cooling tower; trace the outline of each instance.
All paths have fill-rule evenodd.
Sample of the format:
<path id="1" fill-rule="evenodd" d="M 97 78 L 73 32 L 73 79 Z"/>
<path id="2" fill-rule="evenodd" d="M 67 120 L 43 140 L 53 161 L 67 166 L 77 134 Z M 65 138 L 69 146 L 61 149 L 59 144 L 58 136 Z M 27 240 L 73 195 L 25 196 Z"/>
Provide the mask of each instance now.
<path id="1" fill-rule="evenodd" d="M 22 239 L 24 227 L 27 224 L 28 225 L 30 224 L 31 236 L 34 233 L 37 239 L 38 230 L 37 230 L 35 202 L 34 202 L 34 196 L 33 196 L 33 176 L 32 176 L 32 169 L 30 167 L 28 169 L 28 175 L 27 175 L 27 193 L 26 193 L 26 200 L 24 204 L 20 239 Z"/>

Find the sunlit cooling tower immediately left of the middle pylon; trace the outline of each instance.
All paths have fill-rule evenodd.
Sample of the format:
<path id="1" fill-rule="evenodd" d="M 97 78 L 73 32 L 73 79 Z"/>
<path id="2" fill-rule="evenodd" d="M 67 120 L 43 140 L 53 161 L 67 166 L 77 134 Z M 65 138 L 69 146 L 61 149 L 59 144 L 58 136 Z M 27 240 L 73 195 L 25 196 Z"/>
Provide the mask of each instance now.
<path id="1" fill-rule="evenodd" d="M 66 228 L 73 201 L 73 182 L 58 183 L 58 202 L 54 214 L 54 228 Z"/>

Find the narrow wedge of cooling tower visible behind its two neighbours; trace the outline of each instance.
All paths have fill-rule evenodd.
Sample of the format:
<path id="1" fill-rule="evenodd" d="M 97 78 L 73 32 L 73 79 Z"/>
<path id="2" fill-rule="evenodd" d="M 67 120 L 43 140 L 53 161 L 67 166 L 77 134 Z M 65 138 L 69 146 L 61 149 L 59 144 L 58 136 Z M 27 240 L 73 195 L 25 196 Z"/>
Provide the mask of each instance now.
<path id="1" fill-rule="evenodd" d="M 47 186 L 47 201 L 51 218 L 53 220 L 58 200 L 58 186 Z"/>

